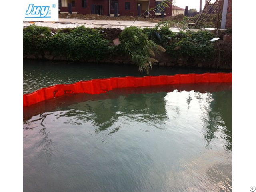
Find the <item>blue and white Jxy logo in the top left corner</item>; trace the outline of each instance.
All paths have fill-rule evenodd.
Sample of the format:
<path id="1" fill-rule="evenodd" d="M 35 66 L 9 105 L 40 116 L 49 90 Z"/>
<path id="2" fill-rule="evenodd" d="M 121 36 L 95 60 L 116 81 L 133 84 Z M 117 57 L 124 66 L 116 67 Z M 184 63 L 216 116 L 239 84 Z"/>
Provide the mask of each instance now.
<path id="1" fill-rule="evenodd" d="M 34 4 L 29 4 L 28 10 L 26 11 L 27 17 L 25 18 L 50 18 L 51 11 L 49 11 L 49 6 L 34 6 Z"/>

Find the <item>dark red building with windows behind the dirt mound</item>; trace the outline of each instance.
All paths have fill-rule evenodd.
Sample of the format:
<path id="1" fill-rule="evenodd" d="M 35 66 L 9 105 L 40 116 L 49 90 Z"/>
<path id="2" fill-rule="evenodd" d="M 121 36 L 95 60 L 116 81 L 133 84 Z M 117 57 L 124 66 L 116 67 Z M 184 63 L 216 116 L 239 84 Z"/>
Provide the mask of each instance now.
<path id="1" fill-rule="evenodd" d="M 105 16 L 140 16 L 163 0 L 59 0 L 60 13 L 99 14 Z M 146 12 L 144 17 L 172 16 L 172 6 L 164 12 Z M 115 15 L 116 14 L 116 15 Z M 141 15 L 143 17 L 143 15 Z"/>

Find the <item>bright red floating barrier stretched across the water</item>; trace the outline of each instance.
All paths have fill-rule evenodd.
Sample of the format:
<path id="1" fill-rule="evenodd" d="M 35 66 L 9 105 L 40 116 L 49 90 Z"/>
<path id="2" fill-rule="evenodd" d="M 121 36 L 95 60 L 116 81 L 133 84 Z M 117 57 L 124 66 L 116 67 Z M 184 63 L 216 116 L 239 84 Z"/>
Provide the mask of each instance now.
<path id="1" fill-rule="evenodd" d="M 177 74 L 173 76 L 112 77 L 93 79 L 74 84 L 58 84 L 23 95 L 23 107 L 62 96 L 64 94 L 100 94 L 115 88 L 158 86 L 188 83 L 232 82 L 232 73 Z"/>

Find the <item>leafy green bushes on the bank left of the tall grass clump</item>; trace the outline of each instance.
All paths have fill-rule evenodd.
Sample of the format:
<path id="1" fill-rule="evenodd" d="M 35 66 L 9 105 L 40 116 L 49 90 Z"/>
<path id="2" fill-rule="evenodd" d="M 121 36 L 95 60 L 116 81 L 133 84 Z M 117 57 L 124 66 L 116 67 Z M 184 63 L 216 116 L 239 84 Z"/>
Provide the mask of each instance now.
<path id="1" fill-rule="evenodd" d="M 50 54 L 67 56 L 68 59 L 76 61 L 88 58 L 100 60 L 111 52 L 109 41 L 104 39 L 102 33 L 96 29 L 80 26 L 72 30 L 59 30 L 54 35 L 47 33 L 47 40 L 44 41 L 41 40 L 44 38 L 38 35 L 41 31 L 42 27 L 34 25 L 24 29 L 24 54 L 50 52 Z M 34 39 L 36 41 L 33 41 Z"/>

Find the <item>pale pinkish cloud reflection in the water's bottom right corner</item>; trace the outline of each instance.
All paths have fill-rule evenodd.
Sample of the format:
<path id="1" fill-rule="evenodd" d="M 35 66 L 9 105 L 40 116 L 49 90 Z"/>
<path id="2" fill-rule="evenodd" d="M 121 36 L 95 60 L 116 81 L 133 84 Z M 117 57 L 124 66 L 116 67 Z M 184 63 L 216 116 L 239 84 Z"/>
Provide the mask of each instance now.
<path id="1" fill-rule="evenodd" d="M 207 150 L 199 156 L 194 155 L 190 160 L 180 159 L 177 164 L 179 171 L 173 168 L 168 172 L 166 191 L 172 189 L 174 192 L 231 192 L 231 161 L 230 154 L 212 150 Z"/>

